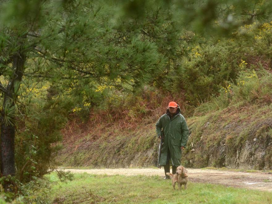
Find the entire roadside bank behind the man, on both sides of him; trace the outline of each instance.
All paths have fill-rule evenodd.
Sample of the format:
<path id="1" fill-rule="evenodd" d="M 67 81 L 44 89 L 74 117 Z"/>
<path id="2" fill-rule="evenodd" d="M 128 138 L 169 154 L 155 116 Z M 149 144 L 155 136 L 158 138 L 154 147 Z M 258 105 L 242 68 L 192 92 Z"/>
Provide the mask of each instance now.
<path id="1" fill-rule="evenodd" d="M 70 121 L 57 161 L 99 168 L 156 166 L 157 116 L 138 125 Z M 186 167 L 272 168 L 272 104 L 233 105 L 186 118 L 191 134 L 183 152 Z"/>

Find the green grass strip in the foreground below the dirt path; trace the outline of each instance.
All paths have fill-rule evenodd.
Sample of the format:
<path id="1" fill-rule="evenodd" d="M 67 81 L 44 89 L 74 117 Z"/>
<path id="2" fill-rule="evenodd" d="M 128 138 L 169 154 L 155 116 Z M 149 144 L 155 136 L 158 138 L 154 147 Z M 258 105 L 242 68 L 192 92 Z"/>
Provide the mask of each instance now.
<path id="1" fill-rule="evenodd" d="M 170 180 L 160 176 L 107 176 L 74 174 L 74 180 L 60 182 L 55 173 L 47 176 L 52 183 L 50 203 L 271 203 L 272 193 L 188 183 L 173 190 Z"/>

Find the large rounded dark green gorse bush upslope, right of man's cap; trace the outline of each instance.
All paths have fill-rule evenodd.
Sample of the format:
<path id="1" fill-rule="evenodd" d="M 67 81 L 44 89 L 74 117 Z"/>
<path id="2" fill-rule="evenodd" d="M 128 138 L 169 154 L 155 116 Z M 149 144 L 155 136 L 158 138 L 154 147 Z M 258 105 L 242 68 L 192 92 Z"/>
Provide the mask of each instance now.
<path id="1" fill-rule="evenodd" d="M 192 104 L 201 99 L 209 99 L 225 81 L 235 79 L 238 67 L 236 61 L 240 57 L 231 57 L 233 47 L 235 46 L 224 46 L 223 43 L 208 45 L 202 49 L 197 46 L 191 50 L 188 58 L 184 58 L 179 78 Z"/>

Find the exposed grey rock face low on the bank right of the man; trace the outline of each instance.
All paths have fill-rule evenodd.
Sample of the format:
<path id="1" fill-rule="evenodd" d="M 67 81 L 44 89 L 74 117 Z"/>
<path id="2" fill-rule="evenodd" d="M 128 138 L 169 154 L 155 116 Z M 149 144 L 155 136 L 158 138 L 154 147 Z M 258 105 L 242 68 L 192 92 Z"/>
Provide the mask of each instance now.
<path id="1" fill-rule="evenodd" d="M 205 123 L 203 127 L 206 128 L 209 124 Z M 205 135 L 198 136 L 200 140 L 197 141 L 192 130 L 184 164 L 189 167 L 215 166 L 255 170 L 272 168 L 272 119 L 263 120 L 253 126 L 231 123 L 223 130 L 240 132 L 230 135 L 220 131 L 225 133 L 224 136 L 214 138 L 213 145 L 208 146 L 209 141 Z"/>

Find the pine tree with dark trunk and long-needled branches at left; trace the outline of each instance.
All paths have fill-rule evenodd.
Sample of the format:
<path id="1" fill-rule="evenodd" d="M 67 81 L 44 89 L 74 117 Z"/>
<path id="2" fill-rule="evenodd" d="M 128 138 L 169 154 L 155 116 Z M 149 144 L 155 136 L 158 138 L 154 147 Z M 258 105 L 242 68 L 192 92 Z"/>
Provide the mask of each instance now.
<path id="1" fill-rule="evenodd" d="M 157 45 L 141 38 L 139 28 L 120 26 L 114 5 L 14 0 L 0 9 L 2 176 L 15 174 L 15 110 L 22 82 L 134 87 L 164 65 Z"/>

